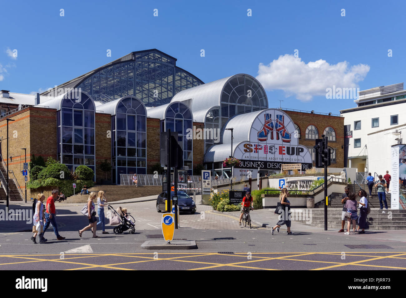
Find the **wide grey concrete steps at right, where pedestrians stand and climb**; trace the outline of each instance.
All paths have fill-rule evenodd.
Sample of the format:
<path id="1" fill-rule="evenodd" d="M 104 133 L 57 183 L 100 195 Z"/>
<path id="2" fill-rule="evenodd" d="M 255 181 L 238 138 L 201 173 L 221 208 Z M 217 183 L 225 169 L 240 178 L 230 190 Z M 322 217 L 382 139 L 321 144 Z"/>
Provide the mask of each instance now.
<path id="1" fill-rule="evenodd" d="M 305 211 L 310 212 L 307 214 L 308 220 L 302 219 L 298 220 L 298 222 L 315 227 L 324 227 L 324 210 L 322 208 L 305 209 Z M 327 227 L 329 229 L 341 229 L 341 212 L 342 208 L 328 208 Z M 406 210 L 391 210 L 390 208 L 389 210 L 379 210 L 373 208 L 371 213 L 367 215 L 367 224 L 369 229 L 372 230 L 406 230 Z M 292 226 L 294 226 L 294 222 Z"/>

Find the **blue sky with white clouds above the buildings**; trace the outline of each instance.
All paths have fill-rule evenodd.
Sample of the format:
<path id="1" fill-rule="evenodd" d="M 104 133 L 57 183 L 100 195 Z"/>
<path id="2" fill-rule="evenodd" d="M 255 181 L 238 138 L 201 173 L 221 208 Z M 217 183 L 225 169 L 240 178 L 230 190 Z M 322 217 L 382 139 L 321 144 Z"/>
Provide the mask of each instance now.
<path id="1" fill-rule="evenodd" d="M 156 48 L 205 83 L 257 77 L 269 107 L 283 100 L 285 108 L 339 114 L 353 99 L 326 99 L 326 87 L 405 81 L 404 9 L 400 1 L 2 2 L 0 88 L 46 90 Z"/>

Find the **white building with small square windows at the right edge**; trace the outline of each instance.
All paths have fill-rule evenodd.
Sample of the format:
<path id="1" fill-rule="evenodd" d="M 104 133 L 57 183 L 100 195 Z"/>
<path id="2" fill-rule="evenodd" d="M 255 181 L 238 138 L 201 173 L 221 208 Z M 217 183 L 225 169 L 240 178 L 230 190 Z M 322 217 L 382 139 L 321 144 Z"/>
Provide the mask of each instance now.
<path id="1" fill-rule="evenodd" d="M 406 90 L 403 83 L 359 92 L 357 107 L 341 110 L 344 126 L 352 131 L 348 167 L 372 176 L 391 174 L 391 145 L 406 137 Z M 403 135 L 402 135 L 403 132 Z M 406 140 L 406 139 L 405 139 Z"/>

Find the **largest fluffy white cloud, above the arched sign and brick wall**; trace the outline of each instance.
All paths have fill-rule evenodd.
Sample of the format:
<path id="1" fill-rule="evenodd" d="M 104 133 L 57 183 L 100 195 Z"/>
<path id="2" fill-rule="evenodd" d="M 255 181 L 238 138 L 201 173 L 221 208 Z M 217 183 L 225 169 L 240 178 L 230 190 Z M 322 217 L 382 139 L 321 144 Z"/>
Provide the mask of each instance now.
<path id="1" fill-rule="evenodd" d="M 260 63 L 258 81 L 266 90 L 283 90 L 287 96 L 310 101 L 313 96 L 326 95 L 326 88 L 356 88 L 367 75 L 366 64 L 350 66 L 347 61 L 329 64 L 326 60 L 304 63 L 300 58 L 285 54 L 269 65 Z"/>

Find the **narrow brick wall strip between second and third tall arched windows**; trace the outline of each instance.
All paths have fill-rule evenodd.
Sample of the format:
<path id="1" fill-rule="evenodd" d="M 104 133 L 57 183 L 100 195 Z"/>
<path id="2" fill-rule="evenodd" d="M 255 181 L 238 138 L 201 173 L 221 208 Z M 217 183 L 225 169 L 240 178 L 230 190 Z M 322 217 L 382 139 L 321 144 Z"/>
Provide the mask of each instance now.
<path id="1" fill-rule="evenodd" d="M 147 174 L 151 166 L 160 163 L 160 120 L 147 118 Z"/>

